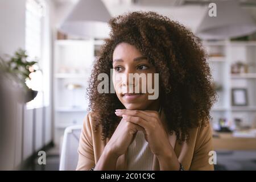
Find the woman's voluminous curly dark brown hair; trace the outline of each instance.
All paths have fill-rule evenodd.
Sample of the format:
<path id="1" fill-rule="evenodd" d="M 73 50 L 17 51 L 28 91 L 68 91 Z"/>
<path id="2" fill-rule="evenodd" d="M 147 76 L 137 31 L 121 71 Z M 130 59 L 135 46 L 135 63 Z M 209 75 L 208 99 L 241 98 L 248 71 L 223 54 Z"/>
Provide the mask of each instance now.
<path id="1" fill-rule="evenodd" d="M 180 23 L 152 11 L 119 15 L 109 21 L 112 31 L 105 39 L 89 81 L 89 109 L 102 125 L 102 139 L 111 137 L 120 119 L 115 109 L 125 109 L 116 94 L 97 91 L 100 73 L 109 78 L 113 51 L 122 42 L 135 46 L 159 73 L 160 105 L 166 113 L 168 131 L 188 141 L 189 129 L 209 123 L 216 101 L 210 68 L 200 40 Z M 111 78 L 112 79 L 112 78 Z M 110 89 L 109 85 L 109 89 Z"/>

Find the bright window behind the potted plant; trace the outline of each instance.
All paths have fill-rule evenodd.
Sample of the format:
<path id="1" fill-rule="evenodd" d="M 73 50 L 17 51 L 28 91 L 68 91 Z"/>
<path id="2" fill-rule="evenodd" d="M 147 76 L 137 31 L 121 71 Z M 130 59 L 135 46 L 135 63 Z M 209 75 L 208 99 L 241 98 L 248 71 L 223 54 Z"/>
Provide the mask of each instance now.
<path id="1" fill-rule="evenodd" d="M 25 49 L 29 59 L 38 61 L 39 71 L 31 73 L 31 80 L 26 84 L 32 90 L 37 90 L 38 95 L 27 103 L 27 107 L 35 108 L 44 105 L 44 75 L 43 75 L 43 40 L 44 17 L 46 15 L 46 3 L 44 0 L 27 0 L 26 2 L 26 38 Z"/>

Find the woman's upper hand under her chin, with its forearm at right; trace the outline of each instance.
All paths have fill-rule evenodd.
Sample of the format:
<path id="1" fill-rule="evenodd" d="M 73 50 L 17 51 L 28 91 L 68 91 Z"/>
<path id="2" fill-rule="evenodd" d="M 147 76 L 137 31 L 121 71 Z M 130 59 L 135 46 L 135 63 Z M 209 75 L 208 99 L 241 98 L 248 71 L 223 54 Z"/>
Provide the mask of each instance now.
<path id="1" fill-rule="evenodd" d="M 124 121 L 134 123 L 143 128 L 145 139 L 150 150 L 158 157 L 160 169 L 179 169 L 179 161 L 172 148 L 159 113 L 151 110 L 116 110 L 116 115 L 123 117 Z M 129 143 L 130 144 L 130 143 Z"/>

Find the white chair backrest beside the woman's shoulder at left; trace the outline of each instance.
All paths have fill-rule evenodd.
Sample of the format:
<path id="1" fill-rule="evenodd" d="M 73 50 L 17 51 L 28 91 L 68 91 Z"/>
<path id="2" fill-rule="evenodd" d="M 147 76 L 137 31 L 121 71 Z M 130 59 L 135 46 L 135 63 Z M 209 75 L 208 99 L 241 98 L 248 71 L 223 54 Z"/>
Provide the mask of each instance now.
<path id="1" fill-rule="evenodd" d="M 76 169 L 81 129 L 82 125 L 69 126 L 65 129 L 60 154 L 60 171 L 73 171 Z"/>

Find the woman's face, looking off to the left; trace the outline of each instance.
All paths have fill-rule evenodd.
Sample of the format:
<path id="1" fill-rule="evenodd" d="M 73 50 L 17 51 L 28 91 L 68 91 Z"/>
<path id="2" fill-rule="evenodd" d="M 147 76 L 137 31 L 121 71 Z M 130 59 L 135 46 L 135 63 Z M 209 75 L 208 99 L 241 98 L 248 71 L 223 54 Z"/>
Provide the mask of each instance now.
<path id="1" fill-rule="evenodd" d="M 154 93 L 149 94 L 147 89 L 148 86 L 154 88 L 155 68 L 136 47 L 128 43 L 118 44 L 113 52 L 113 69 L 115 93 L 126 109 L 158 110 L 159 99 L 148 99 Z M 129 79 L 129 73 L 134 77 Z M 135 73 L 141 78 L 135 78 Z"/>

